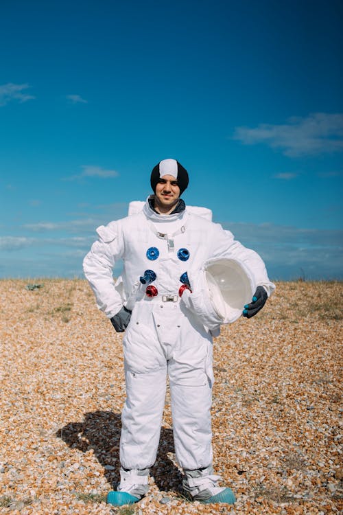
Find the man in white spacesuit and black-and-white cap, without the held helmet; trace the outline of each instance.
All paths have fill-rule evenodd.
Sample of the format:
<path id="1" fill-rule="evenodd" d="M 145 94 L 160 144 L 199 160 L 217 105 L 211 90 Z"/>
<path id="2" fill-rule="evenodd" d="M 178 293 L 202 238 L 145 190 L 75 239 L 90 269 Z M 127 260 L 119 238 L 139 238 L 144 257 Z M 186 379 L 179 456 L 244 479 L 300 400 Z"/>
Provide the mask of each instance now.
<path id="1" fill-rule="evenodd" d="M 222 319 L 206 308 L 210 303 L 202 304 L 206 288 L 201 271 L 208 260 L 241 263 L 256 285 L 252 302 L 241 306 L 248 318 L 263 307 L 274 284 L 257 253 L 206 219 L 211 211 L 185 206 L 180 194 L 188 182 L 187 171 L 175 159 L 158 163 L 150 179 L 154 195 L 136 214 L 98 227 L 99 239 L 84 258 L 98 308 L 117 332 L 126 330 L 121 481 L 107 498 L 113 505 L 135 503 L 147 493 L 167 374 L 185 492 L 202 503 L 235 502 L 230 488 L 218 485 L 220 477 L 212 467 L 212 335 L 218 334 Z M 120 258 L 123 272 L 115 283 L 113 267 Z"/>

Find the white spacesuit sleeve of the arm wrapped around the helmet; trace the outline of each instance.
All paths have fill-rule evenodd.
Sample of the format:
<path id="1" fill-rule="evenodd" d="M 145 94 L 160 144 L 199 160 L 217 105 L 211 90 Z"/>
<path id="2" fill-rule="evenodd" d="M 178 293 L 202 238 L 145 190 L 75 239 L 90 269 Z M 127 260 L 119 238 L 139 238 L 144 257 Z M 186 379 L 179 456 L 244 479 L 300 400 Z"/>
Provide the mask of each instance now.
<path id="1" fill-rule="evenodd" d="M 268 278 L 265 264 L 259 254 L 252 249 L 247 249 L 240 242 L 235 240 L 233 233 L 226 231 L 220 224 L 216 224 L 214 238 L 214 258 L 235 258 L 237 261 L 244 263 L 246 268 L 255 278 L 256 286 L 263 286 L 268 297 L 275 290 L 275 284 Z"/>

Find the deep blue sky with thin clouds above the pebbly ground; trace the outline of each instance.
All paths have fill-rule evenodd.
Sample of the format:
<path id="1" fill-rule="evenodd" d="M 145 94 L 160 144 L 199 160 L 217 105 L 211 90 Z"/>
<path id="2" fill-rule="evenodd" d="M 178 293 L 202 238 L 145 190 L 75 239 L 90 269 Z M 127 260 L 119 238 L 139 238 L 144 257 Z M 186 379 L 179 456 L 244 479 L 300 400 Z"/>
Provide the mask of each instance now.
<path id="1" fill-rule="evenodd" d="M 343 279 L 343 7 L 0 5 L 0 277 L 74 277 L 168 157 L 272 279 Z"/>

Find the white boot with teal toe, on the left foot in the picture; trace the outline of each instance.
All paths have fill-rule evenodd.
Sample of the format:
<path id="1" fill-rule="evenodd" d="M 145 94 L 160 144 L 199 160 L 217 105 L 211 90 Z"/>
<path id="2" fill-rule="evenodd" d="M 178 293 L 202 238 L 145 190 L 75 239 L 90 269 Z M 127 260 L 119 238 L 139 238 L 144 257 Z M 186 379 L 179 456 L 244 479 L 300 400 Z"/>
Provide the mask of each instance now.
<path id="1" fill-rule="evenodd" d="M 107 503 L 115 506 L 137 503 L 149 490 L 149 469 L 120 469 L 120 483 L 117 490 L 108 492 Z"/>

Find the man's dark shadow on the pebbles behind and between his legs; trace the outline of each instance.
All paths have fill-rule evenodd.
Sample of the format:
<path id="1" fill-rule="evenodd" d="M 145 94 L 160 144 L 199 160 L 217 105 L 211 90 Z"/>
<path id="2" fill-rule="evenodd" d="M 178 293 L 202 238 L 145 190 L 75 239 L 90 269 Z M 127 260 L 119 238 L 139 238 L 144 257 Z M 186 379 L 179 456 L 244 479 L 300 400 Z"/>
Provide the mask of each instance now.
<path id="1" fill-rule="evenodd" d="M 84 422 L 69 422 L 56 432 L 69 447 L 81 450 L 82 453 L 93 449 L 99 464 L 104 467 L 105 477 L 117 487 L 119 481 L 119 439 L 121 431 L 121 415 L 112 411 L 94 411 L 84 414 Z M 161 428 L 160 444 L 154 466 L 150 473 L 159 490 L 180 491 L 182 474 L 168 453 L 174 455 L 173 431 Z"/>

